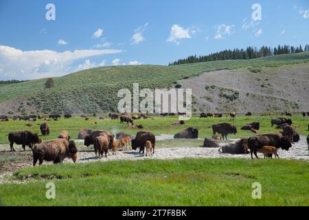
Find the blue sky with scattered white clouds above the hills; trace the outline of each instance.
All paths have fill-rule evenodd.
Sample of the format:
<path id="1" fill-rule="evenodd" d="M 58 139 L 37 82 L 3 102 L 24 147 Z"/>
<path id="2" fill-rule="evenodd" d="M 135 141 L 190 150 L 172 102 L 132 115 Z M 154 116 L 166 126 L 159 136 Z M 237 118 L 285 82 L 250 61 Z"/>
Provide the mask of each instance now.
<path id="1" fill-rule="evenodd" d="M 56 20 L 47 21 L 47 3 Z M 253 3 L 262 20 L 253 21 Z M 309 43 L 309 1 L 0 0 L 0 80 Z"/>

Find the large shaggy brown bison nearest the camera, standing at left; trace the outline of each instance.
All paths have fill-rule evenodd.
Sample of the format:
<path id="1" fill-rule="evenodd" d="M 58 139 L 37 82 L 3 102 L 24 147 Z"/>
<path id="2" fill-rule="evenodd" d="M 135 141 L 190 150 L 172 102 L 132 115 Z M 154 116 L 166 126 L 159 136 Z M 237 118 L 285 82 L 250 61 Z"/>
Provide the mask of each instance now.
<path id="1" fill-rule="evenodd" d="M 52 161 L 54 164 L 61 163 L 63 159 L 69 157 L 76 162 L 78 157 L 78 151 L 76 144 L 73 141 L 68 141 L 65 139 L 55 139 L 43 144 L 38 144 L 32 149 L 33 152 L 33 166 L 43 163 L 43 160 Z"/>

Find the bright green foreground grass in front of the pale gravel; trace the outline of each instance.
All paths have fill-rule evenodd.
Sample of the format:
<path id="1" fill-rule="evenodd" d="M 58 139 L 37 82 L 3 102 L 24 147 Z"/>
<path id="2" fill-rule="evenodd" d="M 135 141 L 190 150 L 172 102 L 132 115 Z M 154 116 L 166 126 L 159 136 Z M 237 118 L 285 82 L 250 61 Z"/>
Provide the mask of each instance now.
<path id="1" fill-rule="evenodd" d="M 0 186 L 7 206 L 308 206 L 308 162 L 173 159 L 23 168 Z M 45 198 L 54 181 L 56 199 Z M 252 184 L 262 199 L 252 199 Z"/>

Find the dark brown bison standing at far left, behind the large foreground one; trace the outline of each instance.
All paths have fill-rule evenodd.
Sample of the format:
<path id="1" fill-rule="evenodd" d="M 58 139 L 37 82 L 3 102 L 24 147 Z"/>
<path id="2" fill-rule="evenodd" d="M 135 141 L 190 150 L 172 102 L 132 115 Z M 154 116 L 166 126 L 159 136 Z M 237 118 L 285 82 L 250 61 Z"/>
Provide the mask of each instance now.
<path id="1" fill-rule="evenodd" d="M 23 146 L 23 151 L 25 151 L 25 146 L 33 147 L 34 144 L 40 144 L 42 139 L 38 137 L 37 133 L 32 133 L 31 131 L 19 131 L 11 132 L 8 134 L 8 140 L 10 142 L 11 151 L 15 151 L 13 144 L 20 144 Z"/>

